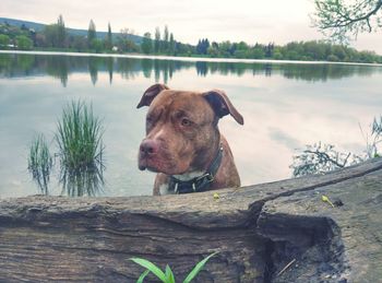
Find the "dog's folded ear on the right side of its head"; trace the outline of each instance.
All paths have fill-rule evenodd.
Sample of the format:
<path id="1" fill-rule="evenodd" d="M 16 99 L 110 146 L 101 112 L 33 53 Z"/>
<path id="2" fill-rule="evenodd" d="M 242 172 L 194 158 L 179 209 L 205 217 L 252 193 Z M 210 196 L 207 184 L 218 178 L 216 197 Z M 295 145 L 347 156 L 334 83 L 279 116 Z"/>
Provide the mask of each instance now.
<path id="1" fill-rule="evenodd" d="M 244 119 L 242 118 L 241 114 L 234 107 L 224 91 L 213 90 L 203 93 L 203 96 L 205 99 L 207 99 L 211 107 L 219 118 L 230 114 L 238 123 L 244 123 Z"/>

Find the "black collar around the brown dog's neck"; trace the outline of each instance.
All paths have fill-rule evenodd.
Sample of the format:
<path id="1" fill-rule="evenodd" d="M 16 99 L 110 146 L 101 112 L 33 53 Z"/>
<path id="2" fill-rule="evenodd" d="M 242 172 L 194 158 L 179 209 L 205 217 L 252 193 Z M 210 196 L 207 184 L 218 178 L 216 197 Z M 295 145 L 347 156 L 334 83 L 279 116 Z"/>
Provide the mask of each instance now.
<path id="1" fill-rule="evenodd" d="M 174 176 L 170 176 L 169 190 L 175 193 L 190 193 L 205 191 L 210 188 L 210 184 L 213 182 L 215 175 L 220 167 L 223 158 L 223 146 L 219 146 L 215 160 L 212 162 L 205 174 L 195 177 L 191 180 L 179 180 Z"/>

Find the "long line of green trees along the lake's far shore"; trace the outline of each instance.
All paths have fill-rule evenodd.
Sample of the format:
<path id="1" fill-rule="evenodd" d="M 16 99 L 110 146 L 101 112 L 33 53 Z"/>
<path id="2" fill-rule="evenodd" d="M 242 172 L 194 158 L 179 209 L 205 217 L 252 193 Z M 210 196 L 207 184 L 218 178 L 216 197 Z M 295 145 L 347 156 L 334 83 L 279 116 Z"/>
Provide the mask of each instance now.
<path id="1" fill-rule="evenodd" d="M 270 44 L 249 45 L 244 42 L 229 40 L 216 43 L 201 38 L 195 46 L 182 44 L 175 39 L 166 25 L 163 32 L 155 28 L 141 40 L 133 39 L 134 32 L 122 28 L 112 33 L 110 23 L 105 36 L 97 36 L 96 25 L 89 21 L 86 35 L 68 32 L 62 15 L 57 23 L 46 25 L 36 32 L 25 25 L 21 27 L 9 24 L 0 25 L 0 48 L 51 49 L 91 52 L 142 52 L 146 55 L 198 56 L 212 58 L 274 59 L 274 60 L 318 60 L 345 62 L 379 62 L 382 56 L 373 51 L 358 51 L 345 45 L 334 45 L 324 40 L 293 42 L 284 46 Z"/>

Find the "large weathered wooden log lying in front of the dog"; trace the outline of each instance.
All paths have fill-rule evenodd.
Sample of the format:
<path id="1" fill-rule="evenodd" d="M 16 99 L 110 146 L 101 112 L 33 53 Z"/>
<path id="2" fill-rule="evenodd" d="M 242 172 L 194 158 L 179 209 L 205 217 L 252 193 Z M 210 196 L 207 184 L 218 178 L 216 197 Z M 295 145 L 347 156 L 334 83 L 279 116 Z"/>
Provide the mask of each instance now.
<path id="1" fill-rule="evenodd" d="M 217 192 L 0 200 L 0 282 L 135 282 L 131 257 L 181 282 L 213 251 L 195 282 L 382 279 L 382 158 Z"/>

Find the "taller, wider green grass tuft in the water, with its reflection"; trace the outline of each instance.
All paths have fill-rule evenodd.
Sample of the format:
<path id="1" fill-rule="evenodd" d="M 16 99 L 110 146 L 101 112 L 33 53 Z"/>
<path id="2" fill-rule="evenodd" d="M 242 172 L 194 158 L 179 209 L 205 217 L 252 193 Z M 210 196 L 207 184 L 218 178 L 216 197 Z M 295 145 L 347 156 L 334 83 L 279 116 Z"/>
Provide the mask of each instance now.
<path id="1" fill-rule="evenodd" d="M 57 122 L 55 139 L 60 160 L 60 182 L 71 197 L 95 196 L 104 185 L 102 120 L 81 101 L 68 104 Z"/>

